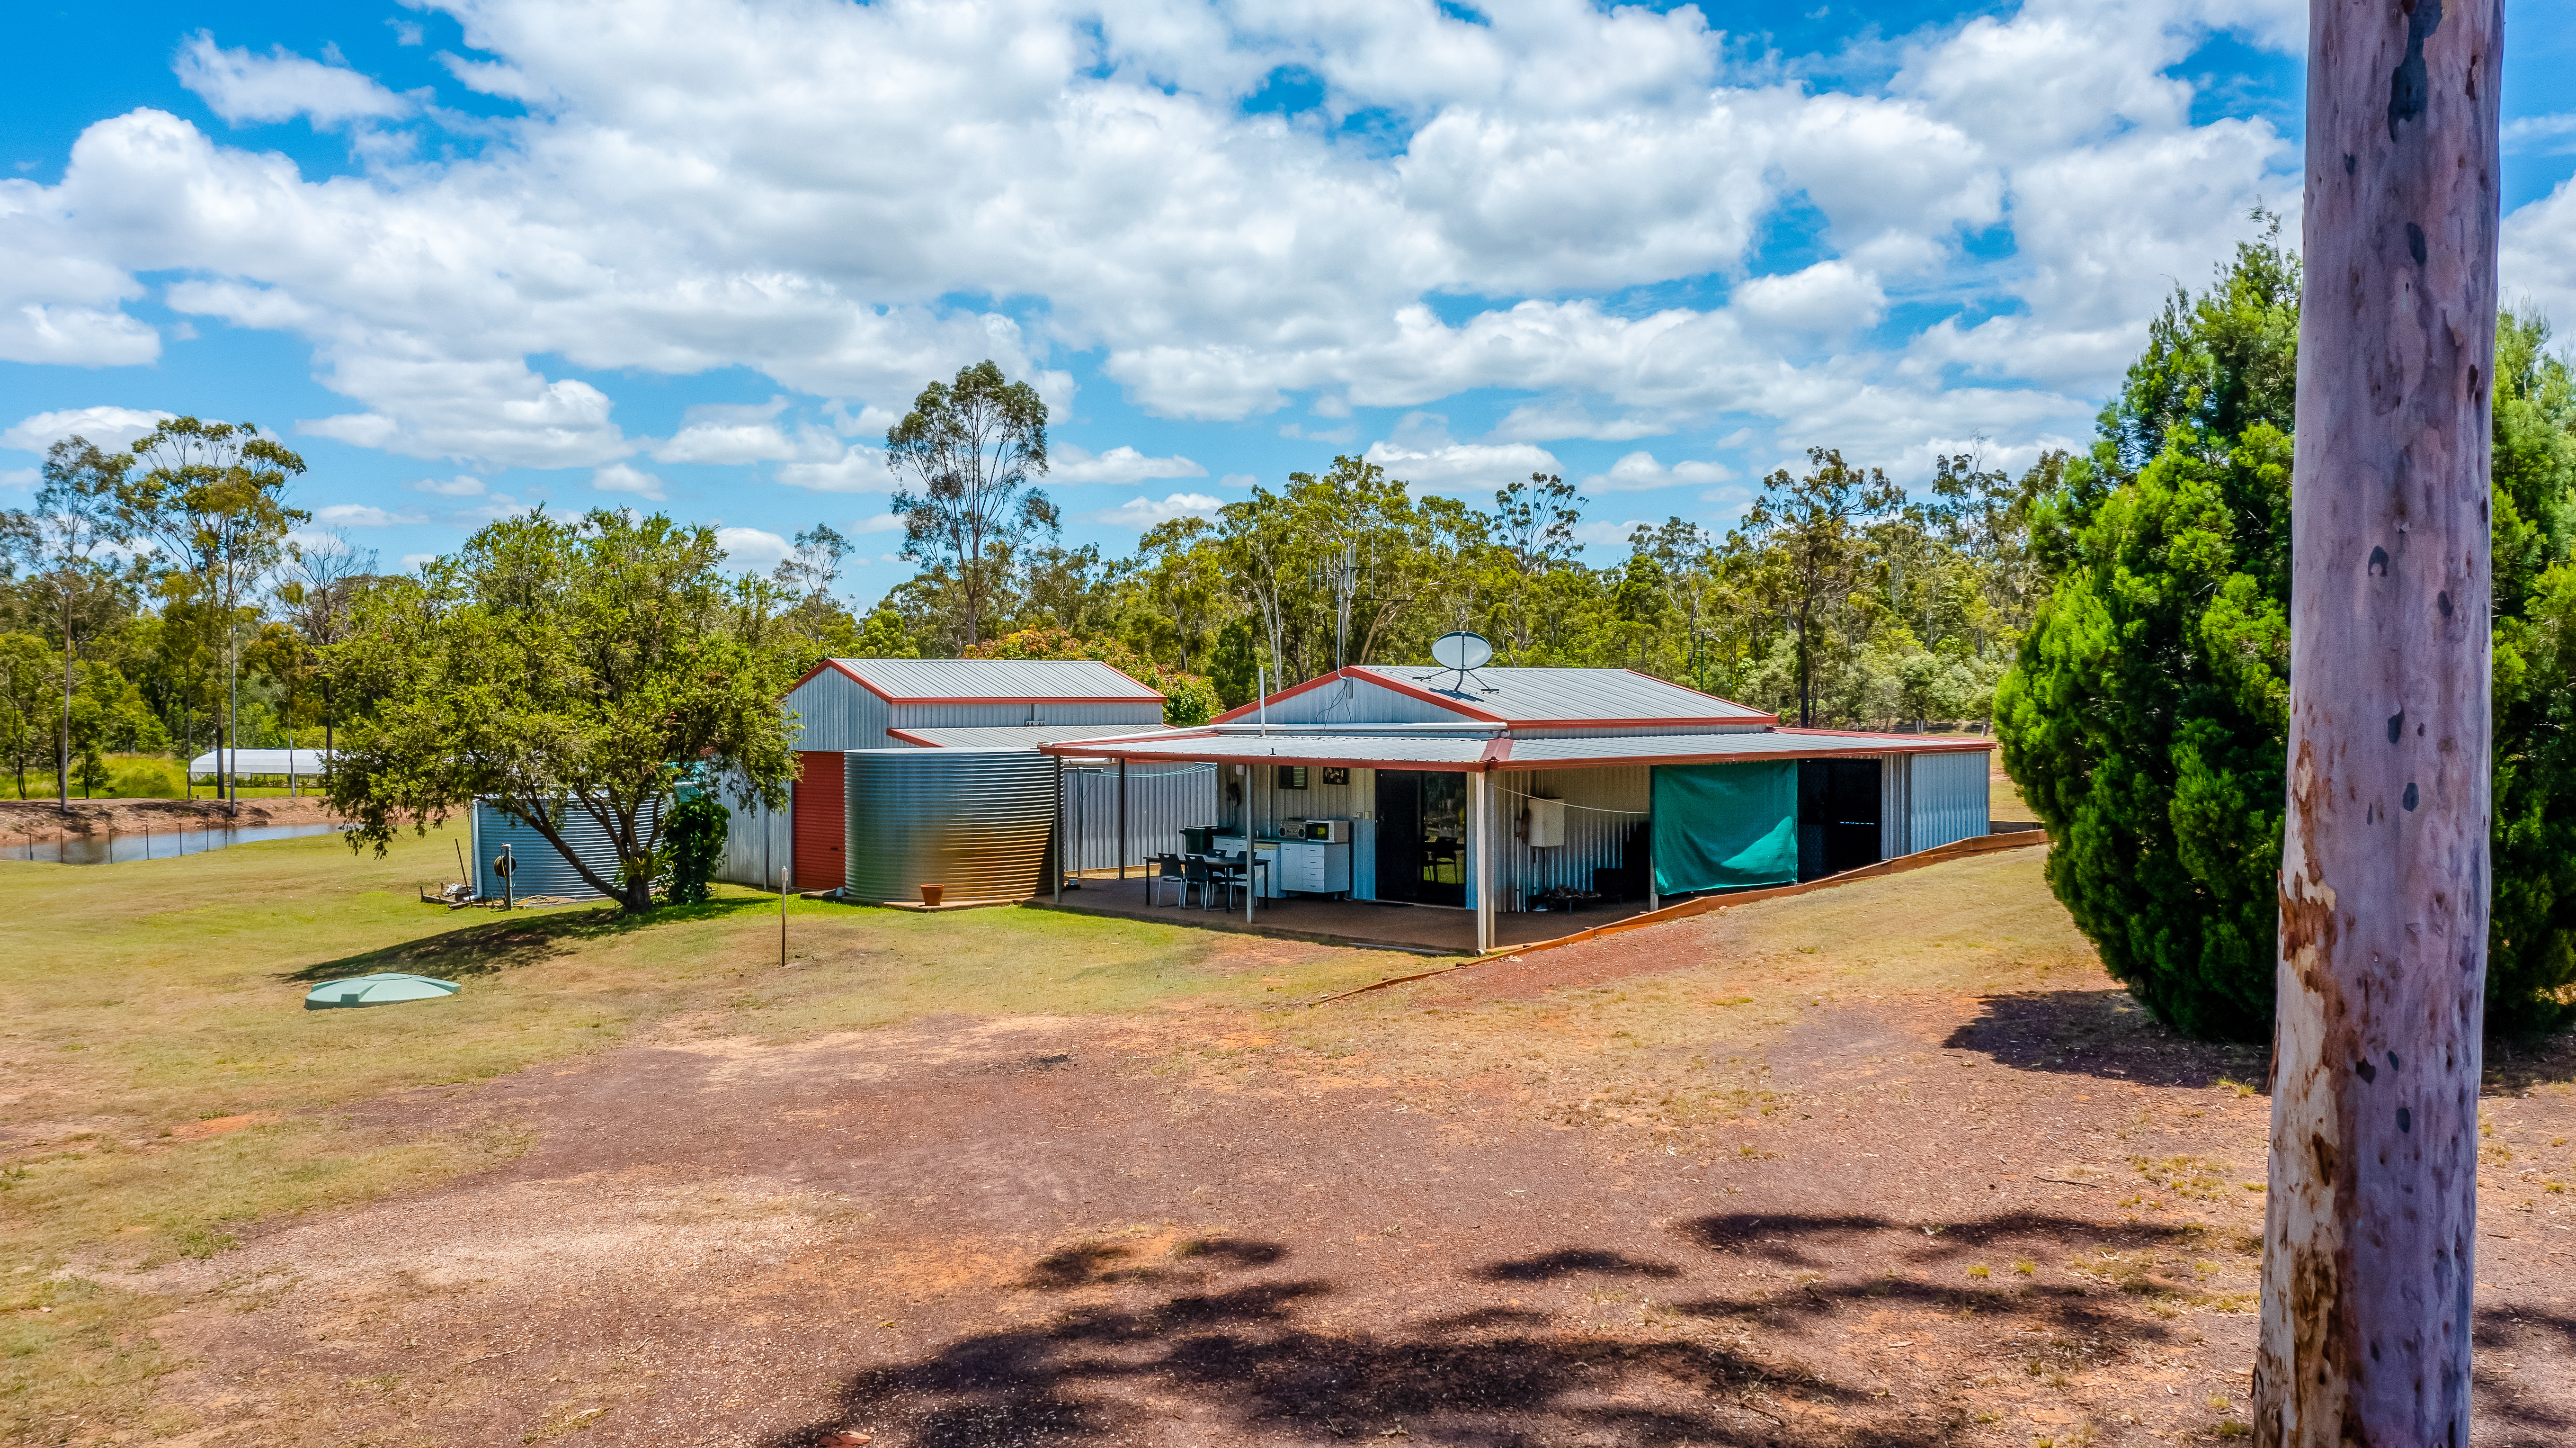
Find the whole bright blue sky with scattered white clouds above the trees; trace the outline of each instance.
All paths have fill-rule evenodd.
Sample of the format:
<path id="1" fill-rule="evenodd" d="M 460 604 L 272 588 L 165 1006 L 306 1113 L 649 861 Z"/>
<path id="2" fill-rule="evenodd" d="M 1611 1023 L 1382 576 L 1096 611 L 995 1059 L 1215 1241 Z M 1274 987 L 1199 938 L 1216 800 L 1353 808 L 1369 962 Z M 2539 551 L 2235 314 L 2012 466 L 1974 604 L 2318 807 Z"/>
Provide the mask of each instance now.
<path id="1" fill-rule="evenodd" d="M 2298 214 L 2306 10 L 618 3 L 18 8 L 0 505 L 255 420 L 386 564 L 528 505 L 894 562 L 876 446 L 992 356 L 1074 541 L 1368 453 L 1587 492 L 1589 557 L 1808 443 L 2079 441 Z M 2576 319 L 2576 21 L 2514 0 L 2504 294 Z"/>

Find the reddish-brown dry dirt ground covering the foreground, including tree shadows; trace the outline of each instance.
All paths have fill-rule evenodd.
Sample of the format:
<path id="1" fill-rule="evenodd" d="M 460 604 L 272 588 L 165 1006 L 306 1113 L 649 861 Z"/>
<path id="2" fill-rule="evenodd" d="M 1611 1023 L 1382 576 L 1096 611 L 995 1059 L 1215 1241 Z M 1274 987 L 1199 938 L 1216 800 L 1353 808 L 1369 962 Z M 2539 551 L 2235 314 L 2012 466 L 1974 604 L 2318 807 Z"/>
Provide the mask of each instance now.
<path id="1" fill-rule="evenodd" d="M 209 1445 L 2244 1435 L 2259 1054 L 2081 956 L 1896 989 L 1754 925 L 1327 1007 L 670 1023 L 358 1113 L 505 1167 L 124 1281 Z M 2576 1443 L 2568 1080 L 2486 1100 L 2481 1445 Z"/>

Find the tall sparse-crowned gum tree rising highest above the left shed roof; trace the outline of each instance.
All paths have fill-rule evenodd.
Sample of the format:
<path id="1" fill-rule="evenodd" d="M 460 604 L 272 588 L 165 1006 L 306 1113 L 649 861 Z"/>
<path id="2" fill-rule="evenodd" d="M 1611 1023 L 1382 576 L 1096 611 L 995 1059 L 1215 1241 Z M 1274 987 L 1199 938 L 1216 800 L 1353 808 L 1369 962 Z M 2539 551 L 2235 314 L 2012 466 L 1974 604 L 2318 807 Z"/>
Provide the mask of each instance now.
<path id="1" fill-rule="evenodd" d="M 909 477 L 894 495 L 904 557 L 953 569 L 963 644 L 974 647 L 1020 551 L 1059 531 L 1056 505 L 1030 487 L 1030 474 L 1046 472 L 1046 402 L 989 361 L 958 368 L 956 384 L 933 381 L 886 430 L 886 466 Z"/>

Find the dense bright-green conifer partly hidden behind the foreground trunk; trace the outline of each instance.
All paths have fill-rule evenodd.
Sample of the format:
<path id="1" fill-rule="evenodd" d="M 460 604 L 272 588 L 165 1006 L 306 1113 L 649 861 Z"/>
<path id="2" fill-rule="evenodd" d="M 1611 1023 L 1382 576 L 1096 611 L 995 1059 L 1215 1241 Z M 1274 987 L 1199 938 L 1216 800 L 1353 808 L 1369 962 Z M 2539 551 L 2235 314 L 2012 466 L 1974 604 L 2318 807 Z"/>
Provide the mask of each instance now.
<path id="1" fill-rule="evenodd" d="M 2050 886 L 2195 1036 L 2272 1020 L 2295 340 L 2275 237 L 2166 304 L 2092 456 L 2030 490 L 2050 593 L 1996 691 L 2004 768 L 2058 840 Z M 2576 389 L 2545 343 L 2504 317 L 2494 371 L 2491 1031 L 2566 1020 L 2576 982 Z"/>

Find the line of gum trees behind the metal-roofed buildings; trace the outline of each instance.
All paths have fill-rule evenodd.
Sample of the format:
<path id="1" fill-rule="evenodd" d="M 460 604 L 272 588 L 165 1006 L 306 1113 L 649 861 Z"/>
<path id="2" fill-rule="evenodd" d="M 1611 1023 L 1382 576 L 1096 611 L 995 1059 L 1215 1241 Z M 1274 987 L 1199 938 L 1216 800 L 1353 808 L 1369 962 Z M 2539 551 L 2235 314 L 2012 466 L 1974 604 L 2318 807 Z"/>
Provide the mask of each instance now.
<path id="1" fill-rule="evenodd" d="M 1811 448 L 1803 469 L 1762 479 L 1739 526 L 1636 526 L 1628 557 L 1589 564 L 1592 500 L 1564 477 L 1476 505 L 1355 456 L 1159 523 L 1128 557 L 1064 546 L 1036 487 L 1046 410 L 992 363 L 925 389 L 889 453 L 920 572 L 848 624 L 866 654 L 971 657 L 1043 634 L 1048 649 L 1206 680 L 1231 709 L 1265 680 L 1422 662 L 1435 636 L 1476 629 L 1504 665 L 1633 667 L 1819 727 L 1989 714 L 2043 585 L 2030 505 L 2066 464 L 2009 477 L 1942 456 L 1909 497 L 1883 469 Z M 819 531 L 799 549 L 796 567 L 837 577 L 848 544 Z"/>

